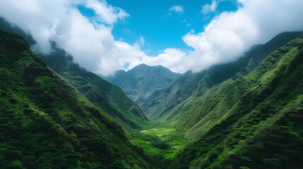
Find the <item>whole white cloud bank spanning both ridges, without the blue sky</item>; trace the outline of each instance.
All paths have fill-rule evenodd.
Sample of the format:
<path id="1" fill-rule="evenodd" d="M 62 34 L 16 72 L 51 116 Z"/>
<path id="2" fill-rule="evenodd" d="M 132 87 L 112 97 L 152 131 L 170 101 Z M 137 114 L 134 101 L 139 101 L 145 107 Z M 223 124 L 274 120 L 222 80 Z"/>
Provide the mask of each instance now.
<path id="1" fill-rule="evenodd" d="M 215 2 L 214 8 L 208 6 L 210 11 L 220 5 Z M 1 1 L 0 16 L 32 35 L 37 42 L 32 46 L 35 51 L 47 54 L 51 42 L 56 42 L 76 63 L 102 75 L 112 74 L 126 63 L 129 63 L 127 70 L 145 63 L 163 65 L 178 73 L 198 72 L 214 64 L 234 61 L 252 45 L 264 43 L 280 32 L 303 30 L 303 1 L 238 0 L 237 3 L 237 11 L 220 13 L 203 32 L 189 32 L 182 37 L 192 50 L 170 48 L 158 56 L 145 54 L 141 50 L 142 40 L 134 44 L 114 40 L 114 24 L 131 15 L 105 0 Z M 79 6 L 93 11 L 93 16 L 83 15 Z"/>

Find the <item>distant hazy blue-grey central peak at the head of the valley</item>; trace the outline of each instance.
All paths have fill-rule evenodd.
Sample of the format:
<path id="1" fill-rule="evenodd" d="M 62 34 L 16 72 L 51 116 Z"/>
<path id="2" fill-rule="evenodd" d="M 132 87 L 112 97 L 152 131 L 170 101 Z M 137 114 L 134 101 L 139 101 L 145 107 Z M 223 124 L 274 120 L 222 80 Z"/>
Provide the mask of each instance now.
<path id="1" fill-rule="evenodd" d="M 114 76 L 103 78 L 120 87 L 129 98 L 136 101 L 146 112 L 153 100 L 162 94 L 179 76 L 179 73 L 173 73 L 162 65 L 141 64 L 127 72 L 118 70 Z"/>

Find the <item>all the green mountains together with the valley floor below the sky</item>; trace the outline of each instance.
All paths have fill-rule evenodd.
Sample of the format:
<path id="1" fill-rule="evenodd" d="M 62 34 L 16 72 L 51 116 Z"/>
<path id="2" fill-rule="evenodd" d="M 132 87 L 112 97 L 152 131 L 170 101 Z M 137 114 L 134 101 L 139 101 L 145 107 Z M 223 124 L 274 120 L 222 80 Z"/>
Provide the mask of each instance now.
<path id="1" fill-rule="evenodd" d="M 200 73 L 109 77 L 20 34 L 0 31 L 0 168 L 303 168 L 301 32 Z"/>

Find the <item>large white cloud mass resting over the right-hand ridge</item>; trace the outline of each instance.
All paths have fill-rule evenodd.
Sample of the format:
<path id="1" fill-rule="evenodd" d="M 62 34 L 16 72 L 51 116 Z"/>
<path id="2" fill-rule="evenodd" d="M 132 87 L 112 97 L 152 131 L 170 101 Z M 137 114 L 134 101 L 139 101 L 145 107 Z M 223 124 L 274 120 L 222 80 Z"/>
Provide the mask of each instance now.
<path id="1" fill-rule="evenodd" d="M 149 58 L 152 61 L 146 59 L 145 63 L 166 64 L 167 68 L 179 73 L 198 72 L 211 65 L 235 61 L 252 45 L 265 43 L 280 32 L 303 31 L 303 1 L 239 0 L 238 3 L 242 7 L 235 12 L 220 13 L 203 32 L 184 35 L 184 42 L 193 47 L 193 51 L 182 53 L 179 49 L 171 49 L 174 54 L 164 52 Z M 167 61 L 172 63 L 165 63 Z"/>

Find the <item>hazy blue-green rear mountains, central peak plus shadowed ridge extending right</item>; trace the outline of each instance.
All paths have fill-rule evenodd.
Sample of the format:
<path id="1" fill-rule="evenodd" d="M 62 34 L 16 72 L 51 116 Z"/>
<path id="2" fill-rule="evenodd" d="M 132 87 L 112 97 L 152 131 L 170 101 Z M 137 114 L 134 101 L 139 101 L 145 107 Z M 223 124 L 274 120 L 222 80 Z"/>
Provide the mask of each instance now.
<path id="1" fill-rule="evenodd" d="M 200 73 L 189 70 L 180 75 L 161 65 L 142 64 L 127 72 L 118 70 L 115 75 L 103 78 L 120 87 L 143 108 L 149 118 L 161 118 L 190 96 L 202 95 L 215 84 L 246 75 L 257 68 L 268 54 L 295 39 L 299 33 L 281 33 L 266 44 L 253 46 L 237 61 L 214 65 Z"/>

